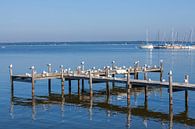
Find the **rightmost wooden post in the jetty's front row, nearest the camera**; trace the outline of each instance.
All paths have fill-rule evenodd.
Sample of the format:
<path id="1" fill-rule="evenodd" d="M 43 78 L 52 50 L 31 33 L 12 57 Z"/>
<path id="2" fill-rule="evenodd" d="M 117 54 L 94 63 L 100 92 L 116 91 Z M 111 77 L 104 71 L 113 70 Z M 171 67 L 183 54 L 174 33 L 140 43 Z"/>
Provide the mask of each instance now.
<path id="1" fill-rule="evenodd" d="M 173 77 L 172 77 L 172 71 L 169 72 L 169 106 L 173 105 Z"/>

